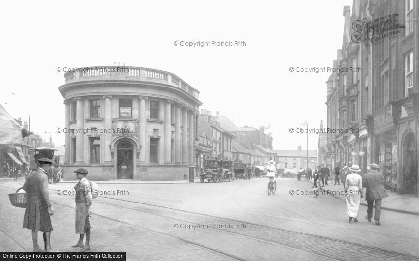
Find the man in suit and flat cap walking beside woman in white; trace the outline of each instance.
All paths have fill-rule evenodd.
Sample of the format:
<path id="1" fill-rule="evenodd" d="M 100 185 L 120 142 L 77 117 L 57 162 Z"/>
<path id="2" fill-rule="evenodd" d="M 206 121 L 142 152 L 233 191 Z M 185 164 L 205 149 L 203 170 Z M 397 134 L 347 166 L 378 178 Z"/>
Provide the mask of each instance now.
<path id="1" fill-rule="evenodd" d="M 367 189 L 365 192 L 365 200 L 367 201 L 367 215 L 365 218 L 371 222 L 373 217 L 373 205 L 375 205 L 374 220 L 377 226 L 380 226 L 380 213 L 381 213 L 381 199 L 388 197 L 381 181 L 384 181 L 383 174 L 378 172 L 380 166 L 378 164 L 370 164 L 371 171 L 364 175 L 362 186 Z"/>

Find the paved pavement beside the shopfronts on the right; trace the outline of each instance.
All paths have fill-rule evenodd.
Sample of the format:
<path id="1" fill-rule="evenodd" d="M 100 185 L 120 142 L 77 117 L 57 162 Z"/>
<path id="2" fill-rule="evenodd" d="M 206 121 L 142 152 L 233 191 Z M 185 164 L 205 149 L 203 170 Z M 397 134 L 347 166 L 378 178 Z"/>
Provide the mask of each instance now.
<path id="1" fill-rule="evenodd" d="M 306 182 L 311 182 L 313 184 L 313 180 Z M 329 185 L 321 187 L 321 190 L 332 197 L 345 201 L 344 186 L 342 184 L 334 185 L 330 180 L 328 183 Z M 413 195 L 409 194 L 397 194 L 396 192 L 388 190 L 387 193 L 388 197 L 383 199 L 381 209 L 419 215 L 419 198 L 415 198 Z M 361 205 L 367 206 L 365 198 L 361 199 Z"/>

